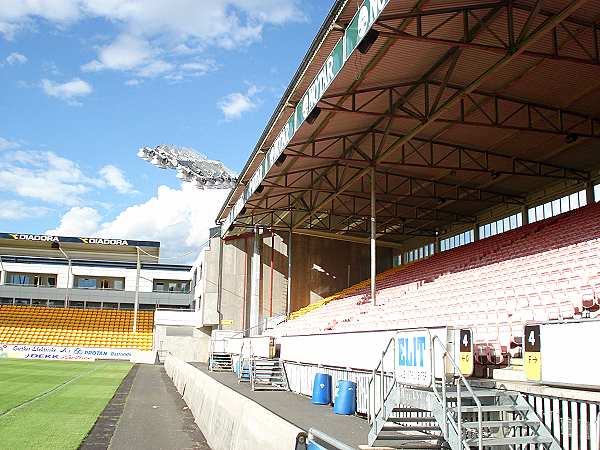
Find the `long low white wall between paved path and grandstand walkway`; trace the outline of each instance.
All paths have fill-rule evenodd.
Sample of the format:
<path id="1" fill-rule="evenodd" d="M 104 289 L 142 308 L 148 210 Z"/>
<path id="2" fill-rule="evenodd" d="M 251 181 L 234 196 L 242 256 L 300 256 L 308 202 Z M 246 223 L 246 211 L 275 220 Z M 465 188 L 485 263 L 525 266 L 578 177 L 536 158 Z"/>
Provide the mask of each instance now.
<path id="1" fill-rule="evenodd" d="M 195 367 L 167 356 L 165 370 L 213 450 L 295 450 L 304 432 Z"/>

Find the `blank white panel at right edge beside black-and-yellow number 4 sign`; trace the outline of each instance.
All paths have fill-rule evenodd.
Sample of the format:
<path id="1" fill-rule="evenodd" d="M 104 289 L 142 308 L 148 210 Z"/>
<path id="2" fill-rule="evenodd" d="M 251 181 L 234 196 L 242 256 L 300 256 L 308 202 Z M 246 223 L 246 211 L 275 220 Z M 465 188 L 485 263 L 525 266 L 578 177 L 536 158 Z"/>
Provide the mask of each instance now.
<path id="1" fill-rule="evenodd" d="M 540 337 L 542 383 L 600 386 L 600 320 L 540 324 Z"/>

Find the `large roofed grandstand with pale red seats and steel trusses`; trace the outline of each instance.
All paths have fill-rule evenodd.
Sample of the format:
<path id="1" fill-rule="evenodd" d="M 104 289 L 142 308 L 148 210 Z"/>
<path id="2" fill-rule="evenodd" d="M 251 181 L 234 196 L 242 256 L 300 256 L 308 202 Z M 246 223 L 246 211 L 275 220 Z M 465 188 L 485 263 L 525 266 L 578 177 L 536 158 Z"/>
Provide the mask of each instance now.
<path id="1" fill-rule="evenodd" d="M 313 448 L 599 448 L 599 8 L 335 2 L 219 212 L 209 371 L 167 358 L 209 442 L 210 385 Z"/>

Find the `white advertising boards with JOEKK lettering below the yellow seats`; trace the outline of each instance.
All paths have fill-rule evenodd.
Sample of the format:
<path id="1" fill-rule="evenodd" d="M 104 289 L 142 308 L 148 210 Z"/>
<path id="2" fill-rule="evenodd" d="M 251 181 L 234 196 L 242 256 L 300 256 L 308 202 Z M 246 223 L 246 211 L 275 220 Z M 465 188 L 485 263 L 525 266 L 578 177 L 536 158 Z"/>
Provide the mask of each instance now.
<path id="1" fill-rule="evenodd" d="M 19 359 L 84 360 L 119 359 L 129 361 L 138 350 L 125 348 L 56 347 L 48 345 L 0 344 L 0 357 Z"/>

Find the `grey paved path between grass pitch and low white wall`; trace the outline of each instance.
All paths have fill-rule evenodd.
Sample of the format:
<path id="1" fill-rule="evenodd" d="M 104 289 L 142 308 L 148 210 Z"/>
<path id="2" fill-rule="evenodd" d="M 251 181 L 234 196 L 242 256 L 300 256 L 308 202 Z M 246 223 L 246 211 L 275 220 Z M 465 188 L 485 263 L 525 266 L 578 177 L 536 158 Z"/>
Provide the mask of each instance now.
<path id="1" fill-rule="evenodd" d="M 112 450 L 210 450 L 192 413 L 162 366 L 140 365 Z"/>

